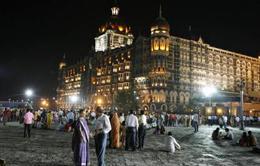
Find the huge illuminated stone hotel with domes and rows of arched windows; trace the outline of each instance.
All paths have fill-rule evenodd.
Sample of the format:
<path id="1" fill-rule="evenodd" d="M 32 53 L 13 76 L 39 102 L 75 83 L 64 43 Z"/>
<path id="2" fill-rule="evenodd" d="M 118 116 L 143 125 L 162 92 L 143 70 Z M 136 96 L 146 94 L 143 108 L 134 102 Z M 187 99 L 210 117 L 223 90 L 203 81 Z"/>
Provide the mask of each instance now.
<path id="1" fill-rule="evenodd" d="M 88 98 L 86 105 L 95 105 L 101 99 L 102 105 L 112 110 L 117 91 L 137 89 L 141 109 L 182 110 L 194 98 L 204 96 L 205 86 L 214 86 L 218 90 L 215 96 L 220 98 L 239 96 L 236 82 L 243 78 L 247 80 L 243 89 L 245 96 L 259 102 L 260 59 L 212 47 L 201 37 L 194 40 L 171 36 L 170 25 L 162 17 L 161 8 L 159 17 L 152 23 L 151 35 L 134 39 L 130 27 L 119 16 L 120 8 L 116 6 L 111 10 L 111 17 L 101 25 L 95 38 L 94 53 L 89 54 L 94 60 L 85 60 L 85 70 L 91 73 L 84 79 L 92 83 L 84 85 L 88 85 L 92 93 L 82 91 Z M 87 64 L 92 64 L 92 70 Z M 71 75 L 70 68 L 73 66 L 61 69 L 64 74 L 60 75 L 60 80 L 64 85 L 59 91 L 66 91 L 64 96 L 70 95 L 66 79 L 75 77 L 76 73 Z M 236 114 L 238 108 L 238 102 L 212 103 L 212 110 L 218 112 L 221 108 L 221 113 L 232 109 Z"/>

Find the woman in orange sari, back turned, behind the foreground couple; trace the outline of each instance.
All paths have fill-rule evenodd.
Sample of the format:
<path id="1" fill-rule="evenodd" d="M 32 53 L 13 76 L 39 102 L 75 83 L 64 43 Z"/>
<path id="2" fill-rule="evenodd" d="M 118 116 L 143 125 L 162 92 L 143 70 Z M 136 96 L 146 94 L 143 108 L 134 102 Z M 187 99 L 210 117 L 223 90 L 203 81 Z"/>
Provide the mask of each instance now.
<path id="1" fill-rule="evenodd" d="M 120 121 L 117 113 L 115 112 L 111 119 L 111 136 L 112 136 L 112 148 L 120 147 Z"/>

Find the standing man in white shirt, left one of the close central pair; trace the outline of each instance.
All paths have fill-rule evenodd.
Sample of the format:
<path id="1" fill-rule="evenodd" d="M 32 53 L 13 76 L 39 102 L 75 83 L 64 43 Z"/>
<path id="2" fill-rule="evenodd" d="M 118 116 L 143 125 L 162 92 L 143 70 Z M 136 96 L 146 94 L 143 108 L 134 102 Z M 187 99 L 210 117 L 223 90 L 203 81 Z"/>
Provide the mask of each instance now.
<path id="1" fill-rule="evenodd" d="M 132 151 L 136 151 L 136 130 L 138 130 L 139 125 L 138 125 L 137 117 L 133 115 L 133 110 L 131 110 L 130 115 L 127 116 L 126 126 L 127 126 L 127 138 L 126 138 L 125 150 L 128 151 L 129 142 L 131 139 Z"/>

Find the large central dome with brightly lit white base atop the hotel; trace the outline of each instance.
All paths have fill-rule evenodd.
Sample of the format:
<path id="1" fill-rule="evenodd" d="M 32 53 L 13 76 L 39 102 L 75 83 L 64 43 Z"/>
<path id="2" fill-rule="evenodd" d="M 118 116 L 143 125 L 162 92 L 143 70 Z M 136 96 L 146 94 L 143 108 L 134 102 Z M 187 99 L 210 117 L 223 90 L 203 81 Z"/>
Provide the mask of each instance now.
<path id="1" fill-rule="evenodd" d="M 98 36 L 95 38 L 95 51 L 104 52 L 117 47 L 126 47 L 133 43 L 133 34 L 122 19 L 119 17 L 120 8 L 117 4 L 111 8 L 111 17 L 99 28 Z"/>

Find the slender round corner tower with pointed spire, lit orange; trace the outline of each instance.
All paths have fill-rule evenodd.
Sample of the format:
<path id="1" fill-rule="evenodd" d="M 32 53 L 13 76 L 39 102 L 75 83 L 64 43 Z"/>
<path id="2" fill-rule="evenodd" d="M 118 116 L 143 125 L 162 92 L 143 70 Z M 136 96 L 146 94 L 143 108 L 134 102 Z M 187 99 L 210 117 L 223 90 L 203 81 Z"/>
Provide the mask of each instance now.
<path id="1" fill-rule="evenodd" d="M 166 110 L 166 87 L 168 80 L 167 56 L 169 55 L 170 25 L 161 16 L 161 5 L 159 17 L 151 27 L 151 55 L 152 55 L 152 111 Z M 154 109 L 155 107 L 155 109 Z"/>

